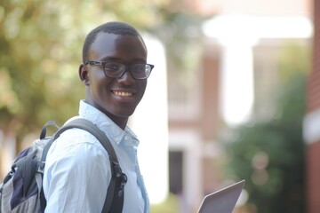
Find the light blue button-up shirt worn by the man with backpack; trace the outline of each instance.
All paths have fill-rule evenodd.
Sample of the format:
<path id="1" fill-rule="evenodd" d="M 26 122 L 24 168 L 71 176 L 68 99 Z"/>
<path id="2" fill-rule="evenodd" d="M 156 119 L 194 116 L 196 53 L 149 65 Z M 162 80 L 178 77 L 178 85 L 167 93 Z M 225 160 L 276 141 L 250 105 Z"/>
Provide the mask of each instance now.
<path id="1" fill-rule="evenodd" d="M 79 115 L 103 130 L 128 177 L 123 212 L 149 211 L 148 194 L 137 160 L 139 140 L 128 127 L 122 130 L 106 114 L 80 101 Z M 111 179 L 108 152 L 85 130 L 71 129 L 50 148 L 44 168 L 46 213 L 100 213 Z"/>

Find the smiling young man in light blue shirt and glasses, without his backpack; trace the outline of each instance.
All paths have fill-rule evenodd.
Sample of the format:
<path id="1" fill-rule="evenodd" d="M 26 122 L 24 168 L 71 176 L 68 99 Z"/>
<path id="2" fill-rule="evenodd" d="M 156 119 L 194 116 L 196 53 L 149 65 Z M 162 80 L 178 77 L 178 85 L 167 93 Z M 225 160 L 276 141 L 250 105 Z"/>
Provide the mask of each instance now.
<path id="1" fill-rule="evenodd" d="M 85 85 L 79 116 L 104 131 L 127 176 L 123 212 L 148 212 L 148 194 L 137 160 L 139 140 L 127 127 L 154 66 L 135 28 L 108 22 L 86 37 L 79 76 Z M 49 150 L 44 169 L 45 212 L 101 212 L 111 170 L 107 151 L 90 133 L 72 129 Z"/>

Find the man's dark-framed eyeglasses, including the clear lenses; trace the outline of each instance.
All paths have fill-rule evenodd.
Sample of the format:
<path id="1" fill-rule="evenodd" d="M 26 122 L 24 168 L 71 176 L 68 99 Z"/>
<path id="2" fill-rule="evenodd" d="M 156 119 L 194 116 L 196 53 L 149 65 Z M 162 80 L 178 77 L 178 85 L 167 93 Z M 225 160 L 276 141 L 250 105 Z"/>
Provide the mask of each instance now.
<path id="1" fill-rule="evenodd" d="M 85 65 L 97 66 L 101 65 L 103 67 L 103 72 L 107 77 L 118 78 L 124 75 L 124 73 L 129 70 L 134 79 L 147 79 L 151 74 L 151 70 L 154 65 L 151 64 L 134 64 L 132 66 L 127 66 L 117 62 L 110 61 L 95 61 L 91 60 L 85 63 Z"/>

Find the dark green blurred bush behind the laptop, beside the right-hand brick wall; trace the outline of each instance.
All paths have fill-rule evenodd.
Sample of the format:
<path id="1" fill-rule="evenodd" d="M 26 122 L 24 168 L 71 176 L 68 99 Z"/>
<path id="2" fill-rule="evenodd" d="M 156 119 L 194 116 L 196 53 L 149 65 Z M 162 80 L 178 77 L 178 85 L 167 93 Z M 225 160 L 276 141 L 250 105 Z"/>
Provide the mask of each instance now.
<path id="1" fill-rule="evenodd" d="M 306 72 L 295 68 L 300 65 L 292 62 L 294 57 L 287 57 L 286 63 L 282 61 L 285 81 L 278 89 L 275 116 L 239 126 L 227 141 L 227 175 L 246 180 L 248 202 L 260 213 L 305 212 Z"/>

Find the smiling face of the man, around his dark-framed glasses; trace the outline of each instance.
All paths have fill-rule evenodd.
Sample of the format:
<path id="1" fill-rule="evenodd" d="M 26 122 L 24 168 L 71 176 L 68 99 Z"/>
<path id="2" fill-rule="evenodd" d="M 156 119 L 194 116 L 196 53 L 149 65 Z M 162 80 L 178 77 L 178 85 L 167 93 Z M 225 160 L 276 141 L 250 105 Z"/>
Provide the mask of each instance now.
<path id="1" fill-rule="evenodd" d="M 147 62 L 147 50 L 139 36 L 100 33 L 89 50 L 89 60 L 112 61 L 131 66 Z M 126 123 L 146 90 L 147 80 L 134 79 L 130 72 L 122 77 L 107 77 L 102 66 L 83 66 L 87 70 L 86 100 L 107 114 L 118 125 Z"/>

